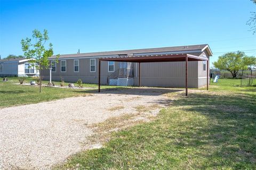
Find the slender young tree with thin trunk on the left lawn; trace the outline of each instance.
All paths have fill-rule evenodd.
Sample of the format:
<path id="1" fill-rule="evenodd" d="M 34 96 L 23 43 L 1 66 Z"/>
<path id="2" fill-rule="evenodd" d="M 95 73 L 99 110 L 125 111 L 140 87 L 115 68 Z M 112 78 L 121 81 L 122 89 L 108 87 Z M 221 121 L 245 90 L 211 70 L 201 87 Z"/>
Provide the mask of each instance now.
<path id="1" fill-rule="evenodd" d="M 24 56 L 29 59 L 31 67 L 35 67 L 39 71 L 40 89 L 42 84 L 42 70 L 48 69 L 50 65 L 49 57 L 53 55 L 52 44 L 45 44 L 49 40 L 47 30 L 41 33 L 39 30 L 34 30 L 32 35 L 34 42 L 30 38 L 22 39 L 21 45 L 24 52 Z M 48 49 L 46 49 L 48 48 Z M 58 62 L 57 55 L 56 62 Z"/>

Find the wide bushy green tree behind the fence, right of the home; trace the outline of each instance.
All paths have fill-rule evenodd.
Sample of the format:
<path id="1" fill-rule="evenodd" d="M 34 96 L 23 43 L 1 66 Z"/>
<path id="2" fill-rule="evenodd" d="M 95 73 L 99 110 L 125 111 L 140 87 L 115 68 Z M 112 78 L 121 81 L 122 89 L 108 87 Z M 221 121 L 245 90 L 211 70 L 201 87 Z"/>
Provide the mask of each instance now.
<path id="1" fill-rule="evenodd" d="M 256 57 L 246 56 L 244 52 L 231 52 L 220 56 L 213 65 L 217 69 L 228 70 L 236 78 L 239 70 L 247 70 L 248 66 L 256 65 Z"/>

